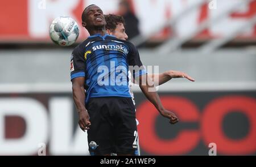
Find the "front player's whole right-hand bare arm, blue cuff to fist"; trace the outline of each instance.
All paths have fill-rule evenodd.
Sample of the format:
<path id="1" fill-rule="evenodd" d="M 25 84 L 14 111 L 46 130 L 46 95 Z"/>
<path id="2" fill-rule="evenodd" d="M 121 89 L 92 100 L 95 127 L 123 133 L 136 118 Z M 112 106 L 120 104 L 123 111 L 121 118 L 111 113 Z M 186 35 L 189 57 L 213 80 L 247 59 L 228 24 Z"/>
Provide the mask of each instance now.
<path id="1" fill-rule="evenodd" d="M 164 109 L 162 102 L 160 101 L 159 95 L 156 92 L 154 83 L 150 78 L 146 78 L 147 74 L 139 76 L 139 87 L 141 88 L 144 95 L 152 104 L 154 104 L 155 108 L 163 117 L 170 119 L 171 124 L 177 123 L 179 119 L 177 119 L 174 113 Z"/>

